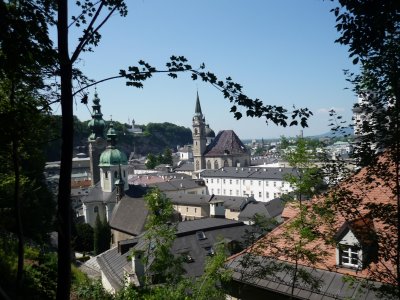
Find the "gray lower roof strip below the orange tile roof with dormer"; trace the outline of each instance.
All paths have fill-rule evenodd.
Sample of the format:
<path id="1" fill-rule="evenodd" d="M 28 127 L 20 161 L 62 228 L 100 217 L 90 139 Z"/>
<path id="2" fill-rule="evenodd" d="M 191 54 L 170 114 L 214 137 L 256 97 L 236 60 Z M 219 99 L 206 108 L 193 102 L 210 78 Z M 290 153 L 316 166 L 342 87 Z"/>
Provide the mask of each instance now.
<path id="1" fill-rule="evenodd" d="M 244 268 L 240 264 L 243 254 L 228 260 L 226 266 L 233 271 L 233 280 L 242 282 L 249 286 L 261 288 L 273 293 L 290 296 L 292 276 L 289 263 L 274 260 L 273 258 L 255 256 L 254 265 Z M 277 263 L 277 265 L 276 265 Z M 281 266 L 279 270 L 268 274 L 268 266 L 270 268 Z M 354 286 L 350 282 L 344 281 L 344 275 L 336 272 L 330 272 L 321 269 L 312 269 L 300 266 L 301 269 L 308 272 L 314 280 L 319 283 L 317 288 L 311 287 L 299 280 L 294 290 L 296 299 L 313 299 L 313 300 L 334 300 L 334 299 L 362 299 L 373 300 L 379 298 L 373 291 L 363 288 L 360 282 L 355 281 Z M 271 269 L 269 269 L 271 270 Z M 262 277 L 257 274 L 264 274 Z M 278 296 L 277 296 L 278 297 Z M 261 299 L 261 298 L 256 298 Z"/>

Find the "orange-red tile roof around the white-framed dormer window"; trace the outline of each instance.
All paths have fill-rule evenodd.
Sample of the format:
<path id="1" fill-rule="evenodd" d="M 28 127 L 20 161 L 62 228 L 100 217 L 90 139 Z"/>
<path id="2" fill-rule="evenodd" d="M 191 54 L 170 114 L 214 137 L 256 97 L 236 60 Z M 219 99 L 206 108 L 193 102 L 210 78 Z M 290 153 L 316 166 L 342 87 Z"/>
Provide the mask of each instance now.
<path id="1" fill-rule="evenodd" d="M 394 171 L 393 164 L 386 167 L 387 172 L 394 174 L 391 172 Z M 393 193 L 394 176 L 391 178 L 392 180 L 384 181 L 371 175 L 370 169 L 364 168 L 332 189 L 328 195 L 303 203 L 311 214 L 315 212 L 311 208 L 325 209 L 328 205 L 333 215 L 329 223 L 320 215 L 313 214 L 316 222 L 314 233 L 317 234 L 317 238 L 304 248 L 311 254 L 319 255 L 319 258 L 313 263 L 307 259 L 300 259 L 299 264 L 396 284 L 398 208 L 396 194 Z M 298 221 L 298 205 L 296 207 L 295 204 L 291 204 L 285 208 L 282 216 L 288 220 L 245 251 L 294 262 L 293 249 L 300 240 L 300 234 L 292 230 L 292 225 Z M 362 270 L 344 268 L 336 264 L 335 237 L 345 224 L 361 243 L 369 244 L 375 240 L 378 244 L 375 259 Z"/>

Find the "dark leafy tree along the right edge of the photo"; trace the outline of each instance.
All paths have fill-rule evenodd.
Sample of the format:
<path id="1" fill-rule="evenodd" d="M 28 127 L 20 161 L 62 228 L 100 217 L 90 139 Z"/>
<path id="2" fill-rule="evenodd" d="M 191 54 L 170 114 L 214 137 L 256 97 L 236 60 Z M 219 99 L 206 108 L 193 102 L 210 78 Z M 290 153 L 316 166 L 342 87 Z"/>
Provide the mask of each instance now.
<path id="1" fill-rule="evenodd" d="M 355 158 L 360 166 L 366 166 L 365 180 L 360 186 L 371 188 L 380 184 L 391 191 L 391 203 L 367 205 L 371 215 L 378 218 L 386 228 L 378 232 L 376 239 L 380 255 L 392 270 L 376 272 L 370 270 L 369 279 L 389 282 L 394 289 L 386 289 L 389 297 L 400 295 L 400 4 L 388 1 L 339 1 L 333 12 L 340 37 L 336 42 L 349 47 L 349 56 L 361 67 L 360 74 L 349 74 L 354 91 L 363 97 L 355 109 L 366 118 L 356 126 Z M 342 121 L 334 128 L 340 130 Z M 386 159 L 382 159 L 381 153 Z M 362 188 L 361 188 L 362 190 Z M 351 197 L 349 197 L 351 198 Z M 352 202 L 347 203 L 347 212 Z M 342 205 L 341 203 L 337 203 Z M 391 213 L 388 213 L 391 212 Z M 356 211 L 360 214 L 360 211 Z M 349 217 L 356 217 L 354 213 Z M 358 216 L 359 217 L 359 216 Z M 387 286 L 384 286 L 387 288 Z"/>

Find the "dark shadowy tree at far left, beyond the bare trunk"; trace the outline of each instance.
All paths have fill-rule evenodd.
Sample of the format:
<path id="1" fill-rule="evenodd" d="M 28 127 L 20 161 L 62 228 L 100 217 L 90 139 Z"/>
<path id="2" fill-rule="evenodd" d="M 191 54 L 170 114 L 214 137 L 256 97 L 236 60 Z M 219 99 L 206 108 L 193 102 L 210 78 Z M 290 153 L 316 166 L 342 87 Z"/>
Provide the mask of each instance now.
<path id="1" fill-rule="evenodd" d="M 33 193 L 30 205 L 41 202 L 40 198 L 36 198 L 38 194 L 43 197 L 43 202 L 49 198 L 49 195 L 45 195 L 42 178 L 36 173 L 41 158 L 35 148 L 42 148 L 39 145 L 44 141 L 39 133 L 40 130 L 34 126 L 40 124 L 41 113 L 46 112 L 48 108 L 45 101 L 46 93 L 43 90 L 44 79 L 52 68 L 55 52 L 46 25 L 49 21 L 47 12 L 51 9 L 48 4 L 46 7 L 43 6 L 44 14 L 36 14 L 39 2 L 41 1 L 0 2 L 0 119 L 6 133 L 4 140 L 1 141 L 4 145 L 4 153 L 1 155 L 3 162 L 4 160 L 11 162 L 3 165 L 5 168 L 1 171 L 0 179 L 5 180 L 3 187 L 7 186 L 7 183 L 13 186 L 9 193 L 3 194 L 7 195 L 7 198 L 2 199 L 2 204 L 14 213 L 15 217 L 11 223 L 14 225 L 13 232 L 17 233 L 19 240 L 17 297 L 23 282 L 24 235 L 32 234 L 29 232 L 29 227 L 28 230 L 24 227 L 24 215 L 27 215 L 27 212 L 22 199 L 25 194 L 29 194 L 29 189 L 36 188 L 41 191 Z M 40 93 L 40 90 L 43 93 Z M 38 122 L 35 122 L 36 118 Z M 29 123 L 30 121 L 33 123 Z M 32 153 L 28 152 L 29 150 L 32 150 Z M 24 166 L 29 159 L 37 159 L 38 165 L 32 163 L 32 170 Z M 38 182 L 35 183 L 35 180 Z M 10 199 L 13 199 L 11 206 L 10 203 L 4 203 Z M 32 205 L 32 208 L 34 207 Z M 51 207 L 50 204 L 49 208 Z M 37 217 L 37 211 L 32 212 Z M 43 215 L 47 221 L 47 209 Z M 36 225 L 37 221 L 34 224 Z M 42 233 L 43 229 L 39 232 Z"/>

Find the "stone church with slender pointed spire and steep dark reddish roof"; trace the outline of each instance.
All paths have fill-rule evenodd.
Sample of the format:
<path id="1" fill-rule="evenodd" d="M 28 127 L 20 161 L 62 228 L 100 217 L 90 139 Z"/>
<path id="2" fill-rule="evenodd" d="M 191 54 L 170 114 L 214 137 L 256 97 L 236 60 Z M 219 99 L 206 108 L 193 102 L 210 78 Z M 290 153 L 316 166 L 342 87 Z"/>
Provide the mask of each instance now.
<path id="1" fill-rule="evenodd" d="M 215 136 L 206 124 L 198 93 L 192 121 L 195 171 L 250 165 L 250 152 L 233 130 L 222 130 Z"/>

